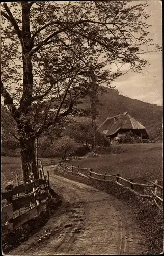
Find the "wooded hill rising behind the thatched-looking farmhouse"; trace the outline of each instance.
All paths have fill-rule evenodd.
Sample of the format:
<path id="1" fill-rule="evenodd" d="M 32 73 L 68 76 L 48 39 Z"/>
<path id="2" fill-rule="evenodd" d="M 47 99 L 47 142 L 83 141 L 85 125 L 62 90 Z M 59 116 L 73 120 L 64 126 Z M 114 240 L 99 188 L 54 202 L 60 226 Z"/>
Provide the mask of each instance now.
<path id="1" fill-rule="evenodd" d="M 99 101 L 101 106 L 99 106 L 98 110 L 98 125 L 105 121 L 107 117 L 112 117 L 127 111 L 133 118 L 145 126 L 150 139 L 155 139 L 158 136 L 159 139 L 162 139 L 162 106 L 131 99 L 108 88 L 106 92 L 99 96 Z M 85 99 L 84 103 L 80 105 L 80 108 L 87 109 L 88 107 L 89 100 Z"/>

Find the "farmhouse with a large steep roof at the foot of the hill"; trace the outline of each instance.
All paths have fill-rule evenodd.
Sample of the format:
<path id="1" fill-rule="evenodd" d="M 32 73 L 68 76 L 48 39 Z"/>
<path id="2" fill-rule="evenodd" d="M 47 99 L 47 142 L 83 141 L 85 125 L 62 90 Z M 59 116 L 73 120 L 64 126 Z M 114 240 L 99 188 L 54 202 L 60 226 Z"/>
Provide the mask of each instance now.
<path id="1" fill-rule="evenodd" d="M 149 136 L 145 127 L 127 112 L 108 117 L 98 128 L 110 142 L 133 143 L 148 142 Z"/>

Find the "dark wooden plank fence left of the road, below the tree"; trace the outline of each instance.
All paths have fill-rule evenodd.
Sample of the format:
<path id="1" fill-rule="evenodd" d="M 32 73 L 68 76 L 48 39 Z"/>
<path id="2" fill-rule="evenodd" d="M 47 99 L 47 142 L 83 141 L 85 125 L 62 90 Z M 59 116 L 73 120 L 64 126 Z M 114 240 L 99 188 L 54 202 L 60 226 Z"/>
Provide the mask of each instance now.
<path id="1" fill-rule="evenodd" d="M 14 232 L 23 223 L 39 215 L 46 209 L 50 193 L 49 172 L 44 175 L 40 170 L 40 179 L 30 178 L 26 184 L 17 186 L 9 185 L 6 191 L 1 193 L 2 199 L 2 235 Z"/>

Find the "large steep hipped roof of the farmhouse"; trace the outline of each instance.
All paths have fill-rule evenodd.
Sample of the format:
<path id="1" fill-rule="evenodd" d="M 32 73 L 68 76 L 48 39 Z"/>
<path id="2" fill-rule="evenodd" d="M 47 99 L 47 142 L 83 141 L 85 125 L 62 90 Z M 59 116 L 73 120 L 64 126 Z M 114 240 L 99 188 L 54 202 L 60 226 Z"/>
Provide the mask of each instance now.
<path id="1" fill-rule="evenodd" d="M 116 123 L 114 123 L 114 118 L 116 118 Z M 110 118 L 107 118 L 98 128 L 100 133 L 110 136 L 115 134 L 119 129 L 145 129 L 145 127 L 136 121 L 132 116 L 127 112 L 123 114 L 116 115 Z M 146 129 L 145 129 L 146 131 Z"/>

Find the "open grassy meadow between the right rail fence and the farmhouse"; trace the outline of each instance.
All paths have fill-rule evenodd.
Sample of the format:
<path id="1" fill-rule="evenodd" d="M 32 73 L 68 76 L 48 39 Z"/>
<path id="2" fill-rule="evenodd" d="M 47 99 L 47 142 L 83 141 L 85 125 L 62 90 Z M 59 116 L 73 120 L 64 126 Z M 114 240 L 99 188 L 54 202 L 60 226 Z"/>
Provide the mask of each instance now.
<path id="1" fill-rule="evenodd" d="M 162 143 L 125 144 L 118 148 L 119 154 L 99 155 L 70 161 L 68 164 L 92 168 L 97 173 L 120 174 L 135 182 L 141 179 L 163 181 Z"/>

